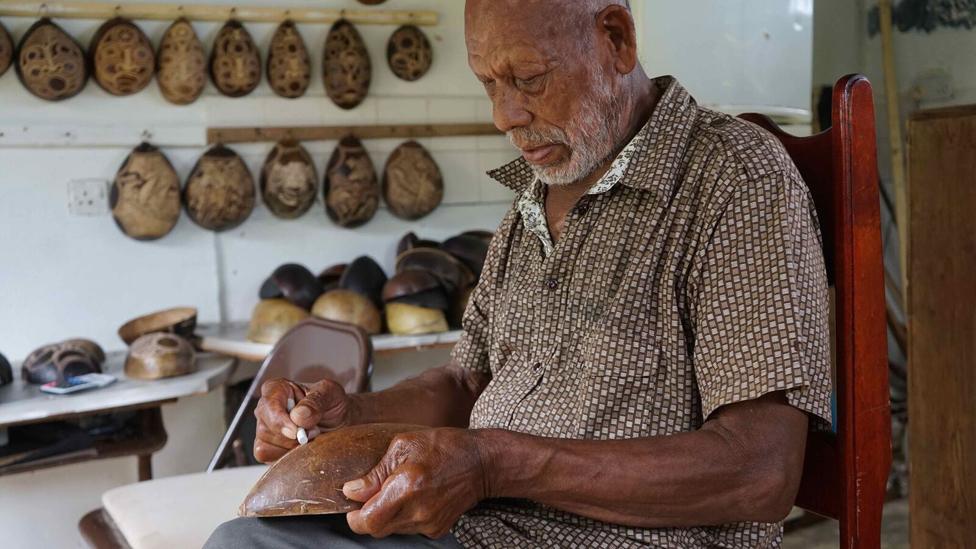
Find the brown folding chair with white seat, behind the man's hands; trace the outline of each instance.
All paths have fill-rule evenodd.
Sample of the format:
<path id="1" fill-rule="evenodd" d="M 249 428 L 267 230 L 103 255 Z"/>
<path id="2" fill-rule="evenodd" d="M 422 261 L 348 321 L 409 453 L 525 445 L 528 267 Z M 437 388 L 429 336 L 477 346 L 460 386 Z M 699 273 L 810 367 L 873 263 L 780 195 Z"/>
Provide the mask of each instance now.
<path id="1" fill-rule="evenodd" d="M 221 522 L 234 518 L 237 506 L 264 470 L 214 470 L 235 448 L 242 423 L 260 396 L 261 384 L 277 377 L 299 382 L 327 377 L 347 392 L 363 392 L 369 389 L 371 358 L 370 339 L 360 328 L 320 319 L 298 324 L 278 341 L 262 363 L 206 473 L 142 482 L 106 492 L 102 497 L 105 507 L 88 513 L 78 523 L 82 537 L 96 549 L 203 545 Z"/>

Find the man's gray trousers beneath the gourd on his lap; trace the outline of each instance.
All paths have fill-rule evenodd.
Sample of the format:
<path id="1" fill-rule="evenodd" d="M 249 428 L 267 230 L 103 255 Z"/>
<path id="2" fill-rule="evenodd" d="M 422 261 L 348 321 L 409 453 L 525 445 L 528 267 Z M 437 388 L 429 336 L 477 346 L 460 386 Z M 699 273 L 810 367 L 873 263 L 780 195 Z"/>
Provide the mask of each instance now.
<path id="1" fill-rule="evenodd" d="M 375 539 L 349 529 L 345 515 L 239 518 L 221 524 L 204 549 L 460 549 L 448 534 L 432 540 L 423 536 Z"/>

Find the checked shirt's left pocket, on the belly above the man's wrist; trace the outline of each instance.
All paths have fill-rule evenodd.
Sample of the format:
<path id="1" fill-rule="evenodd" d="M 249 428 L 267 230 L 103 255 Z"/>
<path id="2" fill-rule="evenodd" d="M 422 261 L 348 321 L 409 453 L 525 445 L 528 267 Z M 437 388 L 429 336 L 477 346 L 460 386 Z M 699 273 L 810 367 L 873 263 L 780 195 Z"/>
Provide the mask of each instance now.
<path id="1" fill-rule="evenodd" d="M 514 429 L 512 419 L 518 406 L 542 381 L 541 361 L 532 361 L 522 351 L 513 351 L 499 365 L 471 411 L 473 429 Z"/>

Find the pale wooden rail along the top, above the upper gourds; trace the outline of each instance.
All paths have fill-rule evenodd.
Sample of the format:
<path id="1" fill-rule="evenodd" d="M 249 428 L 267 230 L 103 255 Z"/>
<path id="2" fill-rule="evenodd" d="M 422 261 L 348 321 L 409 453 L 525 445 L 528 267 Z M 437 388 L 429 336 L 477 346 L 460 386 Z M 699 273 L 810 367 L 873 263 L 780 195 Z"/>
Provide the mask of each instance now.
<path id="1" fill-rule="evenodd" d="M 112 2 L 18 2 L 0 0 L 0 15 L 9 17 L 59 17 L 67 19 L 152 19 L 173 21 L 185 17 L 191 21 L 236 19 L 242 22 L 278 23 L 290 19 L 296 23 L 331 24 L 346 19 L 357 25 L 436 25 L 435 11 L 388 9 L 323 9 L 303 7 L 217 6 L 207 4 L 125 4 Z"/>

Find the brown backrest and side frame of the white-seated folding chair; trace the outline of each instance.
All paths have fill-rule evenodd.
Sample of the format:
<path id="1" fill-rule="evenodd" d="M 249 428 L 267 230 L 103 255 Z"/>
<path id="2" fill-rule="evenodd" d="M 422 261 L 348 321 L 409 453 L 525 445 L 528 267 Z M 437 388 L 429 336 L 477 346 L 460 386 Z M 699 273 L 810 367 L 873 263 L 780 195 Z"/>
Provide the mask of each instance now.
<path id="1" fill-rule="evenodd" d="M 315 383 L 328 378 L 342 385 L 347 393 L 361 393 L 369 390 L 372 354 L 369 336 L 351 324 L 312 318 L 289 330 L 275 344 L 254 376 L 207 466 L 207 472 L 220 465 L 237 438 L 241 421 L 261 396 L 262 383 L 275 378 L 300 383 Z"/>

